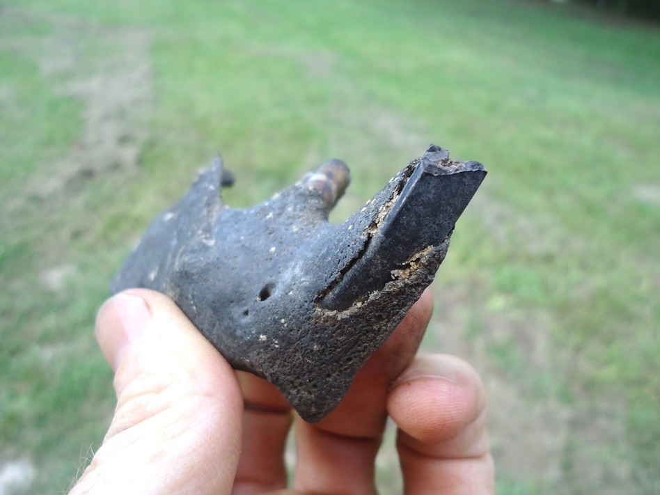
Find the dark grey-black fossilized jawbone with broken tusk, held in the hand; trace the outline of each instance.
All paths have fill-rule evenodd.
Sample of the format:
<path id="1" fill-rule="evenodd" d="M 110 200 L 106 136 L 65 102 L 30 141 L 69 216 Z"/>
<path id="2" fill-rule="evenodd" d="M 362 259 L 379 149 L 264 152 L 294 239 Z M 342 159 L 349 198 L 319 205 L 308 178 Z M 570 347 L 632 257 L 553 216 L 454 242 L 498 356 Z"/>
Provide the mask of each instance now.
<path id="1" fill-rule="evenodd" d="M 319 421 L 429 285 L 486 172 L 431 146 L 341 225 L 328 214 L 349 182 L 324 163 L 246 210 L 223 204 L 215 159 L 148 228 L 112 291 L 171 297 L 239 370 L 275 384 Z"/>

